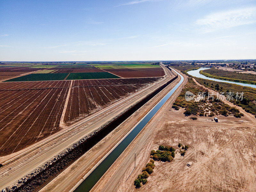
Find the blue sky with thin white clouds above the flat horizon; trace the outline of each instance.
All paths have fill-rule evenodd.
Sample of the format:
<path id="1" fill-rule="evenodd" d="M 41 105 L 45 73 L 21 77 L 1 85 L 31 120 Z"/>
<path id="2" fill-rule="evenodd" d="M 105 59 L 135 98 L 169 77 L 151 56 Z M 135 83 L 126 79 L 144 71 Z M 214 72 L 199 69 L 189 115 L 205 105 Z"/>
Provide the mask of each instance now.
<path id="1" fill-rule="evenodd" d="M 0 0 L 1 61 L 256 59 L 256 0 Z"/>

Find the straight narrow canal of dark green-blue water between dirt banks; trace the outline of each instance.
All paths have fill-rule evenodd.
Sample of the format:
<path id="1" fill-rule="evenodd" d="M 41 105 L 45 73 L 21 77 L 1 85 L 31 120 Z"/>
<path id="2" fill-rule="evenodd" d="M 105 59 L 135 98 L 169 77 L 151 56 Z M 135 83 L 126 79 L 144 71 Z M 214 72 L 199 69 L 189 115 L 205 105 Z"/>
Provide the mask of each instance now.
<path id="1" fill-rule="evenodd" d="M 174 69 L 172 69 L 175 71 Z M 172 96 L 175 90 L 184 81 L 184 77 L 175 71 L 180 77 L 180 82 L 175 85 L 170 92 L 168 92 L 162 100 L 140 121 L 139 124 L 122 140 L 119 145 L 89 174 L 85 180 L 75 189 L 74 192 L 88 192 L 100 180 L 102 175 L 108 168 L 116 161 L 125 148 L 132 142 L 132 140 L 139 134 L 148 121 L 156 114 L 156 112 L 163 106 L 163 104 Z M 88 157 L 90 158 L 90 157 Z"/>

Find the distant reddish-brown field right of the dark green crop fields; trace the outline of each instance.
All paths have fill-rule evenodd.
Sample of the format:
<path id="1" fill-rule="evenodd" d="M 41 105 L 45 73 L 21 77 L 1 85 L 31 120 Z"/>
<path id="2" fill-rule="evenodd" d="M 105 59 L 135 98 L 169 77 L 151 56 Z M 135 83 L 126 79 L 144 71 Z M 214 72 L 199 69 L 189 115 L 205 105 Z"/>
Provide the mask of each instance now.
<path id="1" fill-rule="evenodd" d="M 164 76 L 163 68 L 105 69 L 117 76 L 129 77 L 160 77 Z"/>

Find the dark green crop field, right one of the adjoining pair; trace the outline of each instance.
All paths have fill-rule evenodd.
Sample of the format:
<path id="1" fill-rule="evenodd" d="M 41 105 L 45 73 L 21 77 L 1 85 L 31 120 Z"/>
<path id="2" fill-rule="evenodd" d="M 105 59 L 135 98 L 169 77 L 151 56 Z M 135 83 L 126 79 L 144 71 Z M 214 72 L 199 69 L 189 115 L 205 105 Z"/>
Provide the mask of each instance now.
<path id="1" fill-rule="evenodd" d="M 120 78 L 108 72 L 70 73 L 66 80 Z"/>

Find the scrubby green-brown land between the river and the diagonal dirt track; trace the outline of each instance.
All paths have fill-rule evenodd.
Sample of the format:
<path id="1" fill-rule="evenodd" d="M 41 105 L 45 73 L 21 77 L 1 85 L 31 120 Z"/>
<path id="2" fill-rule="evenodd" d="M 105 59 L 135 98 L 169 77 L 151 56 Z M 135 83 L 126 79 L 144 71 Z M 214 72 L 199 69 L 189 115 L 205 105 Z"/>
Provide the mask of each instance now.
<path id="1" fill-rule="evenodd" d="M 234 95 L 232 95 L 232 97 L 230 98 L 230 102 L 233 102 L 235 105 L 242 107 L 246 112 L 251 113 L 256 117 L 256 89 L 247 87 L 247 86 L 237 85 L 237 84 L 230 84 L 230 83 L 212 81 L 208 79 L 202 79 L 198 77 L 194 77 L 194 78 L 198 83 L 204 85 L 207 88 L 213 89 L 217 92 L 234 93 Z M 216 86 L 217 84 L 218 86 Z M 243 93 L 243 99 L 242 98 L 238 100 L 235 99 L 237 92 Z M 235 117 L 239 117 L 240 115 L 236 115 Z"/>

